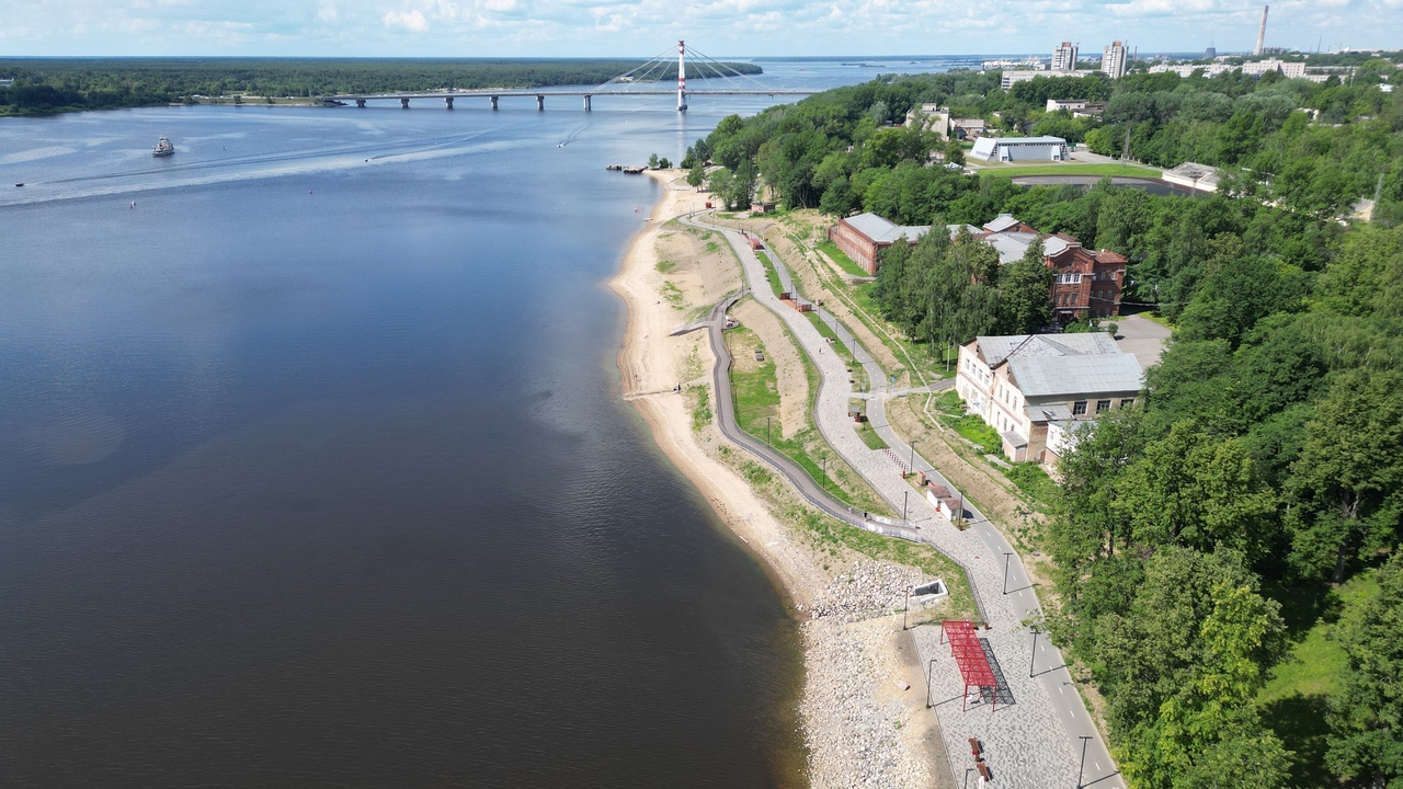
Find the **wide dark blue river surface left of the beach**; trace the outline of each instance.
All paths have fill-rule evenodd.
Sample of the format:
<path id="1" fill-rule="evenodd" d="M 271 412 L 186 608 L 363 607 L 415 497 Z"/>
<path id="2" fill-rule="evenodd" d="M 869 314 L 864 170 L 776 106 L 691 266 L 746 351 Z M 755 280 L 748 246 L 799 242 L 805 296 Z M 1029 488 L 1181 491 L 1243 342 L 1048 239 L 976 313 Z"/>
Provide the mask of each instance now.
<path id="1" fill-rule="evenodd" d="M 774 100 L 476 101 L 0 119 L 0 785 L 801 781 L 605 286 L 659 197 L 605 166 Z"/>

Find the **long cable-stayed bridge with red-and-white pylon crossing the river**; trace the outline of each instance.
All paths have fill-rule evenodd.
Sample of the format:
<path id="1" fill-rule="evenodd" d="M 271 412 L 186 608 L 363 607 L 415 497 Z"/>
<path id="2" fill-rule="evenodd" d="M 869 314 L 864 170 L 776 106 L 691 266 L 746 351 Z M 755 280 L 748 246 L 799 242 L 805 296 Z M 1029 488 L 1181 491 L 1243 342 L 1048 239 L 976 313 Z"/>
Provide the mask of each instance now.
<path id="1" fill-rule="evenodd" d="M 721 80 L 724 87 L 706 87 L 703 90 L 687 90 L 687 56 L 694 69 L 693 80 L 706 79 L 707 84 L 717 84 L 711 80 Z M 344 105 L 355 102 L 365 107 L 368 101 L 398 101 L 400 107 L 408 110 L 412 100 L 442 100 L 452 110 L 457 98 L 487 98 L 492 110 L 501 98 L 536 98 L 536 110 L 546 108 L 549 97 L 582 97 L 584 108 L 588 112 L 592 101 L 599 95 L 676 95 L 678 112 L 687 111 L 687 97 L 693 95 L 811 95 L 817 90 L 772 88 L 765 83 L 742 74 L 725 63 L 687 48 L 685 41 L 678 42 L 678 87 L 676 90 L 659 88 L 658 74 L 672 63 L 672 48 L 654 55 L 641 66 L 617 77 L 588 88 L 494 88 L 494 90 L 427 90 L 415 93 L 345 93 L 337 95 L 320 95 L 328 105 Z"/>

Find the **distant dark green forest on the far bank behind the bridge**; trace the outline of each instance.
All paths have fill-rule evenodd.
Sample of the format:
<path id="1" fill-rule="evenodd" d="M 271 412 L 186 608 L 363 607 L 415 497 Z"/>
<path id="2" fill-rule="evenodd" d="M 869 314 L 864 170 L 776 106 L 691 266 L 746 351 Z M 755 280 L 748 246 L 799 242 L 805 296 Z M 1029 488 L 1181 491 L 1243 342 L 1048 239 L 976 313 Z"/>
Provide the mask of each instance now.
<path id="1" fill-rule="evenodd" d="M 194 101 L 195 95 L 314 97 L 435 88 L 602 84 L 637 69 L 624 59 L 286 59 L 286 58 L 0 58 L 0 114 L 39 114 Z M 758 74 L 753 63 L 725 63 Z M 676 63 L 648 72 L 675 80 Z M 693 76 L 693 79 L 702 79 Z"/>

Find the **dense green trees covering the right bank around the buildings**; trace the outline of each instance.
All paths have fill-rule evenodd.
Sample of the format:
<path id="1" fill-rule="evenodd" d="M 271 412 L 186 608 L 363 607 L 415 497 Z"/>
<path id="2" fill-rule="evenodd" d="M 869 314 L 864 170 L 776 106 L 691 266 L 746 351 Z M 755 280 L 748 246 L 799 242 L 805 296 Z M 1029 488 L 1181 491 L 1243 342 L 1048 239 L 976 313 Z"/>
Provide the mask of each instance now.
<path id="1" fill-rule="evenodd" d="M 683 163 L 724 166 L 713 185 L 732 202 L 770 190 L 937 226 L 1010 212 L 1131 260 L 1125 303 L 1174 334 L 1136 407 L 1066 458 L 1040 539 L 1044 626 L 1104 696 L 1136 788 L 1403 786 L 1403 91 L 1378 87 L 1403 80 L 1364 66 L 1354 84 L 888 77 L 727 119 Z M 1108 105 L 1073 119 L 1042 112 L 1049 95 Z M 1223 190 L 1021 188 L 930 166 L 946 143 L 888 125 L 920 102 L 1010 133 L 1076 126 L 1114 154 L 1128 135 L 1132 157 L 1221 166 Z M 1351 218 L 1375 197 L 1371 222 Z M 1040 272 L 978 247 L 898 243 L 871 295 L 936 350 L 1045 324 Z M 1310 633 L 1338 656 L 1326 689 L 1260 702 Z"/>

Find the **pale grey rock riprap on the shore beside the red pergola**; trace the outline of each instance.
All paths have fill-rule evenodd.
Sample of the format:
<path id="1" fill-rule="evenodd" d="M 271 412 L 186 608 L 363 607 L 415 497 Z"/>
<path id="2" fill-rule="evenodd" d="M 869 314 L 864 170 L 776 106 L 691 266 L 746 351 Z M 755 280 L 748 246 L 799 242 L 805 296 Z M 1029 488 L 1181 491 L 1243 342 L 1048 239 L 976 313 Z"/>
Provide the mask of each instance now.
<path id="1" fill-rule="evenodd" d="M 929 580 L 908 567 L 859 562 L 810 606 L 801 713 L 814 789 L 930 786 L 918 750 L 902 743 L 912 716 L 902 699 L 919 689 L 898 684 L 904 667 L 884 649 L 892 628 L 877 621 L 901 611 L 906 590 Z"/>

